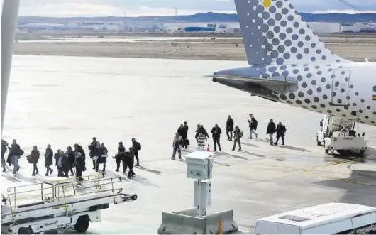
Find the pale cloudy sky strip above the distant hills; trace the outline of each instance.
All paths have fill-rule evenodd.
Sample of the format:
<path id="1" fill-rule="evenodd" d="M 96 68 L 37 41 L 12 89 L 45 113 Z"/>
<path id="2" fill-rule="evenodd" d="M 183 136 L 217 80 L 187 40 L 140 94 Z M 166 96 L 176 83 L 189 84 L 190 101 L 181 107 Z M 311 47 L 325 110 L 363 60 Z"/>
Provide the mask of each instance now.
<path id="1" fill-rule="evenodd" d="M 350 6 L 341 1 L 347 1 Z M 376 13 L 376 0 L 290 0 L 299 12 Z M 21 0 L 20 16 L 173 16 L 236 13 L 233 0 Z"/>

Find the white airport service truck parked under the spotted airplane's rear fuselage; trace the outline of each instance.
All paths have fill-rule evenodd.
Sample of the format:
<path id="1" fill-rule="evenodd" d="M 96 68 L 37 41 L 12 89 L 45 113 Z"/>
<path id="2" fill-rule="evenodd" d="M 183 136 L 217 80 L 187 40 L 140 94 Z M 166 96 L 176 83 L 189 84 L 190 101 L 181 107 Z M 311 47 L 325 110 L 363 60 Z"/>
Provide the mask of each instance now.
<path id="1" fill-rule="evenodd" d="M 326 153 L 350 155 L 360 153 L 364 155 L 367 149 L 365 133 L 359 133 L 359 123 L 336 116 L 326 115 L 321 121 L 321 131 L 316 134 L 317 145 L 324 146 Z M 356 127 L 356 131 L 355 131 Z"/>

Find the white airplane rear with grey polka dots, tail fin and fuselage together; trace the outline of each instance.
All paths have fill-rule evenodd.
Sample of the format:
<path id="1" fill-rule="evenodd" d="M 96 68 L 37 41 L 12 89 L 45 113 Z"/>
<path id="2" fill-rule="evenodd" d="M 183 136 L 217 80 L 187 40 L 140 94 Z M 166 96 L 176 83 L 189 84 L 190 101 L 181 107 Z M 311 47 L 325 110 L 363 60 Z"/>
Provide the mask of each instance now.
<path id="1" fill-rule="evenodd" d="M 376 126 L 376 63 L 329 50 L 288 0 L 235 0 L 246 67 L 213 82 L 320 114 Z"/>

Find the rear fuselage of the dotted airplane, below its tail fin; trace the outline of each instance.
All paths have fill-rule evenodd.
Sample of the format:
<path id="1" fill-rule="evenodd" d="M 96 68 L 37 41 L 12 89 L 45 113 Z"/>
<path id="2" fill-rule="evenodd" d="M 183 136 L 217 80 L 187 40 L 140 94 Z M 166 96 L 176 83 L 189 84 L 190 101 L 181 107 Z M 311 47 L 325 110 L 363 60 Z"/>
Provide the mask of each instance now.
<path id="1" fill-rule="evenodd" d="M 216 75 L 243 80 L 226 80 Z M 281 90 L 247 82 L 247 77 L 291 77 L 297 83 Z M 214 81 L 276 102 L 376 125 L 376 100 L 372 100 L 372 95 L 376 96 L 376 63 L 253 65 L 214 72 Z"/>

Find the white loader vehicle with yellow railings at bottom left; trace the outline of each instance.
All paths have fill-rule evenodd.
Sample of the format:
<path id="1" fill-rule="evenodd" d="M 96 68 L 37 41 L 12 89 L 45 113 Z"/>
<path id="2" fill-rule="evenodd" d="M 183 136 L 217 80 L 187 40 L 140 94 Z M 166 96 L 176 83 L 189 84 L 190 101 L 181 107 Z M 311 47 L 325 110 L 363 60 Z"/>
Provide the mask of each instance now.
<path id="1" fill-rule="evenodd" d="M 89 222 L 101 222 L 101 209 L 137 199 L 115 188 L 118 178 L 87 176 L 83 182 L 57 180 L 9 187 L 1 193 L 1 234 L 39 234 L 74 228 L 82 233 Z"/>

